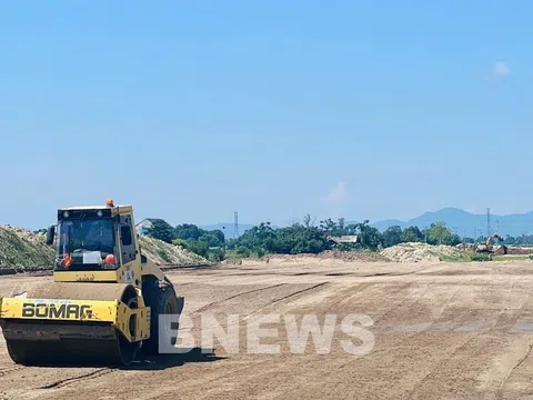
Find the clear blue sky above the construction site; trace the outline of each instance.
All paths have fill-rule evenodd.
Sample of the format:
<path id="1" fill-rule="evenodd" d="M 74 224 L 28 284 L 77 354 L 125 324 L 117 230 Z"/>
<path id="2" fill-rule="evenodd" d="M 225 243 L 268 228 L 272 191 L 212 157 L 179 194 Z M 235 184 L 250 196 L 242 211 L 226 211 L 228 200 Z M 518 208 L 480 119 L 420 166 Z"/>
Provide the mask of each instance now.
<path id="1" fill-rule="evenodd" d="M 0 6 L 0 223 L 533 209 L 526 1 Z"/>

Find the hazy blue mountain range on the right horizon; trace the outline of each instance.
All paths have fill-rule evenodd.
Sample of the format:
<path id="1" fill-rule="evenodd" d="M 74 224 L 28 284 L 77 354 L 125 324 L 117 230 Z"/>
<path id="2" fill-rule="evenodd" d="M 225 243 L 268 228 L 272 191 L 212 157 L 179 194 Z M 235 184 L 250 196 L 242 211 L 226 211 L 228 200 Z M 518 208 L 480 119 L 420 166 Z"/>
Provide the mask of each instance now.
<path id="1" fill-rule="evenodd" d="M 409 221 L 384 220 L 372 226 L 380 231 L 392 226 L 399 226 L 402 229 L 416 226 L 420 229 L 429 227 L 433 222 L 444 222 L 450 229 L 462 237 L 486 236 L 486 214 L 474 214 L 457 208 L 443 208 L 439 211 L 424 212 L 422 216 Z M 491 214 L 491 232 L 516 237 L 522 233 L 533 233 L 533 211 L 523 214 L 497 216 Z"/>

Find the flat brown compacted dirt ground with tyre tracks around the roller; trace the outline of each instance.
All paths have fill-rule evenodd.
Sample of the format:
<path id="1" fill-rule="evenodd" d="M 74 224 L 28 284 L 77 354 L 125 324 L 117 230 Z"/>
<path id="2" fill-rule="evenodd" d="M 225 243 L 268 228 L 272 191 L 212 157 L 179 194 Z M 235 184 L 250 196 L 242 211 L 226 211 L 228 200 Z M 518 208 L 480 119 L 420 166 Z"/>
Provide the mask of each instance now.
<path id="1" fill-rule="evenodd" d="M 124 369 L 24 368 L 0 337 L 0 399 L 533 399 L 531 261 L 270 260 L 169 277 L 185 297 L 180 336 L 194 339 L 179 346 L 195 349 Z M 2 277 L 0 296 L 43 279 Z M 281 316 L 260 339 L 279 352 L 249 334 L 264 316 Z M 299 352 L 291 322 L 313 316 L 333 321 L 331 347 L 310 337 Z M 350 316 L 370 326 L 342 326 Z M 237 341 L 202 341 L 213 318 Z"/>

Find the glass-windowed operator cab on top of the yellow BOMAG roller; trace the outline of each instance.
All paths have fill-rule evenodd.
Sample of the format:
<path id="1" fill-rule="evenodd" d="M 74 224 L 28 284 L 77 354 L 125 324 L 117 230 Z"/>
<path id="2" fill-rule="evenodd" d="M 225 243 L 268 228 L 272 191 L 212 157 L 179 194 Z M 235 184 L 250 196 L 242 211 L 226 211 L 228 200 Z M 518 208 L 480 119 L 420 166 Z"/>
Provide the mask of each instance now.
<path id="1" fill-rule="evenodd" d="M 58 210 L 47 243 L 56 237 L 56 271 L 117 270 L 135 259 L 131 207 L 72 207 Z"/>

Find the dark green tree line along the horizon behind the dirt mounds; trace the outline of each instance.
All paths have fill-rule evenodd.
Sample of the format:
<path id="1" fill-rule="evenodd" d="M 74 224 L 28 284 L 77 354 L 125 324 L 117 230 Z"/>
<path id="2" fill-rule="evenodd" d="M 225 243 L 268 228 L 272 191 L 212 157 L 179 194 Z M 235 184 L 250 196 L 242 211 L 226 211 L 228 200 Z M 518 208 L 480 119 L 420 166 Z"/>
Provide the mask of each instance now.
<path id="1" fill-rule="evenodd" d="M 172 227 L 165 221 L 155 221 L 147 234 L 211 260 L 222 260 L 225 251 L 241 257 L 252 254 L 262 257 L 268 253 L 320 253 L 333 248 L 375 251 L 404 242 L 455 246 L 462 241 L 444 222 L 432 223 L 425 230 L 420 230 L 415 226 L 405 229 L 395 226 L 381 232 L 371 227 L 369 220 L 346 223 L 343 218 L 325 219 L 314 224 L 310 214 L 303 218 L 302 223 L 294 222 L 284 228 L 274 229 L 270 222 L 261 222 L 237 239 L 225 239 L 221 230 L 207 231 L 190 223 Z M 359 241 L 336 244 L 331 240 L 331 237 L 341 236 L 358 236 Z"/>

